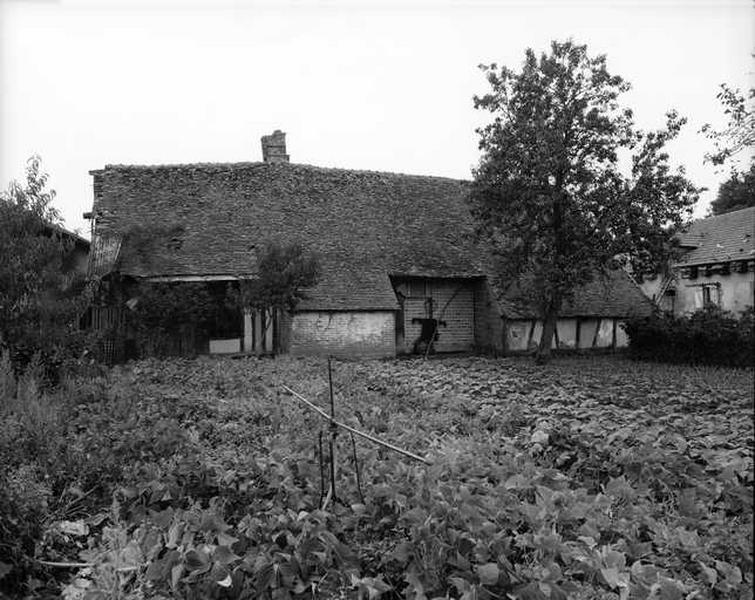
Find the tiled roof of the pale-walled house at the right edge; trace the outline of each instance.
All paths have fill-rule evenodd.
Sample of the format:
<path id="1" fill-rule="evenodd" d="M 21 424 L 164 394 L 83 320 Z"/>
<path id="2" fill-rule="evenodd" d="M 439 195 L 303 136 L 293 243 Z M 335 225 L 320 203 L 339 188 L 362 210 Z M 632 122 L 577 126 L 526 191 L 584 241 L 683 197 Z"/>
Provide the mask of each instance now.
<path id="1" fill-rule="evenodd" d="M 682 265 L 755 259 L 755 207 L 694 221 L 679 241 Z"/>

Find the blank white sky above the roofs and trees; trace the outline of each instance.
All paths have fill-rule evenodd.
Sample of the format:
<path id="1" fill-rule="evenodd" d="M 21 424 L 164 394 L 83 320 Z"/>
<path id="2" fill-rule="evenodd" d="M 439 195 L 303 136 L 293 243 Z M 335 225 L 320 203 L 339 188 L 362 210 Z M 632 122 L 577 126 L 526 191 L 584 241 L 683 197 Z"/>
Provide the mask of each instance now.
<path id="1" fill-rule="evenodd" d="M 689 117 L 675 163 L 710 189 L 697 130 L 718 85 L 753 85 L 748 0 L 165 2 L 0 0 L 0 186 L 42 156 L 69 228 L 88 237 L 88 171 L 111 163 L 261 160 L 470 178 L 487 91 L 477 68 L 572 37 L 633 85 L 637 123 Z"/>

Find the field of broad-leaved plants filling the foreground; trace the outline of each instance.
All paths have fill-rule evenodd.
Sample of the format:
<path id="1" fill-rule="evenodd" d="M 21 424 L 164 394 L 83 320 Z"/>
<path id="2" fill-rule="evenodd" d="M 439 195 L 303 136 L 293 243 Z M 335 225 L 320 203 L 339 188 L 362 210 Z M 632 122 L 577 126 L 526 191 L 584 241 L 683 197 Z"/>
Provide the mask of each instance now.
<path id="1" fill-rule="evenodd" d="M 620 359 L 6 374 L 10 597 L 751 598 L 752 372 Z M 11 389 L 12 388 L 12 389 Z M 320 440 L 322 439 L 322 450 Z"/>

